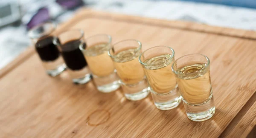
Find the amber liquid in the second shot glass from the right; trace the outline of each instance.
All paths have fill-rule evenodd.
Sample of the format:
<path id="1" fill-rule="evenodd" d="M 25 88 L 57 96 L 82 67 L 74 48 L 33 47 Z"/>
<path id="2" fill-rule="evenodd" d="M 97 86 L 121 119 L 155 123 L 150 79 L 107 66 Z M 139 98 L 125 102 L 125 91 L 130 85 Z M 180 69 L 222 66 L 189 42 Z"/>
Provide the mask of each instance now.
<path id="1" fill-rule="evenodd" d="M 172 63 L 174 62 L 174 57 L 165 64 L 161 64 L 171 56 L 172 55 L 170 54 L 155 56 L 151 59 L 145 60 L 144 62 L 149 65 L 160 63 L 160 65 L 155 65 L 152 67 L 147 66 L 146 68 L 143 68 L 148 80 L 148 84 L 151 86 L 151 89 L 157 93 L 168 93 L 173 90 L 177 84 L 175 74 L 172 72 Z"/>

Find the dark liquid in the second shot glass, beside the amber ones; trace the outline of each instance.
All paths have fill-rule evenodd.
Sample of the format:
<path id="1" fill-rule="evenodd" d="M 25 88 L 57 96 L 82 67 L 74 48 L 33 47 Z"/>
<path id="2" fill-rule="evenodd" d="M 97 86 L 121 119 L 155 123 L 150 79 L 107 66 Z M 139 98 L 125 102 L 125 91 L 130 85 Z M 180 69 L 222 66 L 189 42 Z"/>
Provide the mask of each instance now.
<path id="1" fill-rule="evenodd" d="M 73 40 L 62 45 L 62 56 L 68 68 L 71 70 L 81 70 L 87 66 L 84 54 L 79 49 L 81 42 Z M 85 47 L 85 43 L 84 43 Z"/>

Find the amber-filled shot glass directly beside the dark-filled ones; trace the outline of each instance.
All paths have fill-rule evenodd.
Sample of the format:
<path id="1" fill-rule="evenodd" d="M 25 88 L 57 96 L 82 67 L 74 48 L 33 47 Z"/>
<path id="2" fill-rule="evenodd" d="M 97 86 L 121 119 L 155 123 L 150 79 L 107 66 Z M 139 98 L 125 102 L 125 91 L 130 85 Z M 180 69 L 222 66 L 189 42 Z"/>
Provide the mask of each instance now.
<path id="1" fill-rule="evenodd" d="M 110 93 L 117 90 L 119 77 L 108 51 L 111 48 L 111 36 L 97 34 L 85 39 L 87 46 L 81 46 L 88 66 L 92 71 L 93 81 L 97 89 L 102 93 Z"/>

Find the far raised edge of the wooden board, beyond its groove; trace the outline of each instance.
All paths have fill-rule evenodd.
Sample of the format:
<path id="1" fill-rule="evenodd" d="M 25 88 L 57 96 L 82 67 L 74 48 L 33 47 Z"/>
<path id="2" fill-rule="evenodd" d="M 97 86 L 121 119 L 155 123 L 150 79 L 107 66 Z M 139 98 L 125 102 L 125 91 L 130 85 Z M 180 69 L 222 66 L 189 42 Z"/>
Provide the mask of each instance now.
<path id="1" fill-rule="evenodd" d="M 200 33 L 206 33 L 206 34 L 215 34 L 219 36 L 256 40 L 255 31 L 248 31 L 248 30 L 235 29 L 235 28 L 224 28 L 224 27 L 217 27 L 217 26 L 211 26 L 211 25 L 199 24 L 199 23 L 193 23 L 193 22 L 184 22 L 184 21 L 178 21 L 178 20 L 160 20 L 160 19 L 154 19 L 154 18 L 148 18 L 148 17 L 108 13 L 108 12 L 102 12 L 102 11 L 95 11 L 88 8 L 81 8 L 79 11 L 77 11 L 76 15 L 70 21 L 63 24 L 58 29 L 57 33 L 68 29 L 70 25 L 74 25 L 78 23 L 79 20 L 82 20 L 84 18 L 97 18 L 97 19 L 104 19 L 104 20 L 113 20 L 116 22 L 145 24 L 145 25 L 158 26 L 163 28 L 172 28 L 172 29 L 178 29 L 178 30 L 184 30 L 184 31 L 194 31 L 194 32 L 200 32 Z"/>

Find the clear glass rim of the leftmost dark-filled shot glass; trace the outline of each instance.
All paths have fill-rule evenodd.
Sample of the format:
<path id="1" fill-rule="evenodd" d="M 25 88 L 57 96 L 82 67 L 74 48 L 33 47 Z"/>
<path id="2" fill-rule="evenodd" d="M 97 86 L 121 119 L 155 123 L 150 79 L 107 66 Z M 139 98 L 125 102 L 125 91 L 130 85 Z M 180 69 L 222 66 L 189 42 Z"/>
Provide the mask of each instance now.
<path id="1" fill-rule="evenodd" d="M 52 25 L 50 30 L 49 31 L 46 31 L 46 32 L 42 32 L 42 33 L 39 33 L 37 35 L 33 34 L 33 31 L 37 30 L 38 28 L 40 27 L 43 27 L 44 25 Z M 53 31 L 55 31 L 55 29 L 57 28 L 57 24 L 52 22 L 52 21 L 47 21 L 47 22 L 44 22 L 44 23 L 40 23 L 38 25 L 35 25 L 34 27 L 32 27 L 31 29 L 29 29 L 28 31 L 28 36 L 30 39 L 38 39 L 38 38 L 41 38 L 41 37 L 46 37 L 48 36 L 49 34 L 51 34 Z"/>

